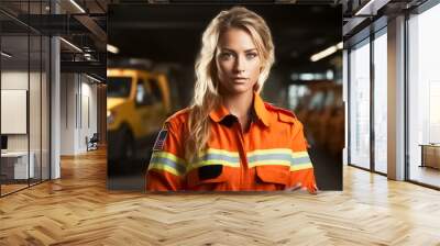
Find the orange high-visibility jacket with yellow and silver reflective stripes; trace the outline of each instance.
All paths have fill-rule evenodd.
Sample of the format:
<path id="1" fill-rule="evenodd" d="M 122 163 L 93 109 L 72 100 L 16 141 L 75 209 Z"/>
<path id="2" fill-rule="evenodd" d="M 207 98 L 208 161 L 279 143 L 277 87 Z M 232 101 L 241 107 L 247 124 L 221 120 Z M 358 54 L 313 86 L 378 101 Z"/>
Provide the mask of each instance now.
<path id="1" fill-rule="evenodd" d="M 210 112 L 210 138 L 197 161 L 185 159 L 189 109 L 170 116 L 156 139 L 147 191 L 274 191 L 300 186 L 316 191 L 302 124 L 254 93 L 248 132 L 224 107 Z"/>

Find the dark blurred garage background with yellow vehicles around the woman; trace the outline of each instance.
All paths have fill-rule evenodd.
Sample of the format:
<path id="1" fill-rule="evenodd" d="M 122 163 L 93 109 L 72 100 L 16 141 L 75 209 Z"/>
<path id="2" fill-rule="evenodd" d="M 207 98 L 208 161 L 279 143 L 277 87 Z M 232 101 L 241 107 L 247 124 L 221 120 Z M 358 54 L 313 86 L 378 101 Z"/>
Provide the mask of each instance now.
<path id="1" fill-rule="evenodd" d="M 155 136 L 193 97 L 201 34 L 229 4 L 109 4 L 108 187 L 142 189 Z M 342 189 L 341 5 L 248 4 L 272 30 L 276 63 L 263 99 L 305 125 L 318 186 Z"/>

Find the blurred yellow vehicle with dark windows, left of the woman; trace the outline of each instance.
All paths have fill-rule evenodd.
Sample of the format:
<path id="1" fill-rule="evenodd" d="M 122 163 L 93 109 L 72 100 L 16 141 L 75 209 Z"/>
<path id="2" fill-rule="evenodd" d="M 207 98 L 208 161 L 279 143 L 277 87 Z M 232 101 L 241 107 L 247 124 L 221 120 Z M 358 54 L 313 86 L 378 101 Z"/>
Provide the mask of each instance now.
<path id="1" fill-rule="evenodd" d="M 125 160 L 143 157 L 154 144 L 170 113 L 169 85 L 163 74 L 141 69 L 107 70 L 108 158 Z"/>

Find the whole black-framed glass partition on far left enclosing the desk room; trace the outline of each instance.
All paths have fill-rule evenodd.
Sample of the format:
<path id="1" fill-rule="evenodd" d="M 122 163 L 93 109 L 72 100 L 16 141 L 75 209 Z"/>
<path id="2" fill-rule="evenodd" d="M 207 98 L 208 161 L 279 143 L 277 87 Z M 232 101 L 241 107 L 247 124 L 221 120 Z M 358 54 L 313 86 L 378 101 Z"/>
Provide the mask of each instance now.
<path id="1" fill-rule="evenodd" d="M 20 8 L 23 14 L 40 14 L 43 9 L 41 7 L 46 4 L 47 1 L 22 1 Z M 48 36 L 21 25 L 3 13 L 0 13 L 0 20 L 2 109 L 12 103 L 25 105 L 23 118 L 15 122 L 25 125 L 24 131 L 11 133 L 7 128 L 1 130 L 2 139 L 8 139 L 8 146 L 2 146 L 0 158 L 2 197 L 50 179 L 51 42 Z M 11 126 L 14 122 L 4 116 L 7 111 L 2 109 L 0 122 Z"/>

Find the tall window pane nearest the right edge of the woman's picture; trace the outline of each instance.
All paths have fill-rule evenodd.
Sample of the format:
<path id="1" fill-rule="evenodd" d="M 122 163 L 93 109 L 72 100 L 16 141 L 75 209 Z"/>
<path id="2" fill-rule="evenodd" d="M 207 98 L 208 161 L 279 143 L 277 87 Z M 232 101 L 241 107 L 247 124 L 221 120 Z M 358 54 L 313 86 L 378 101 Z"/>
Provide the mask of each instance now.
<path id="1" fill-rule="evenodd" d="M 370 41 L 350 53 L 350 163 L 370 169 Z"/>

